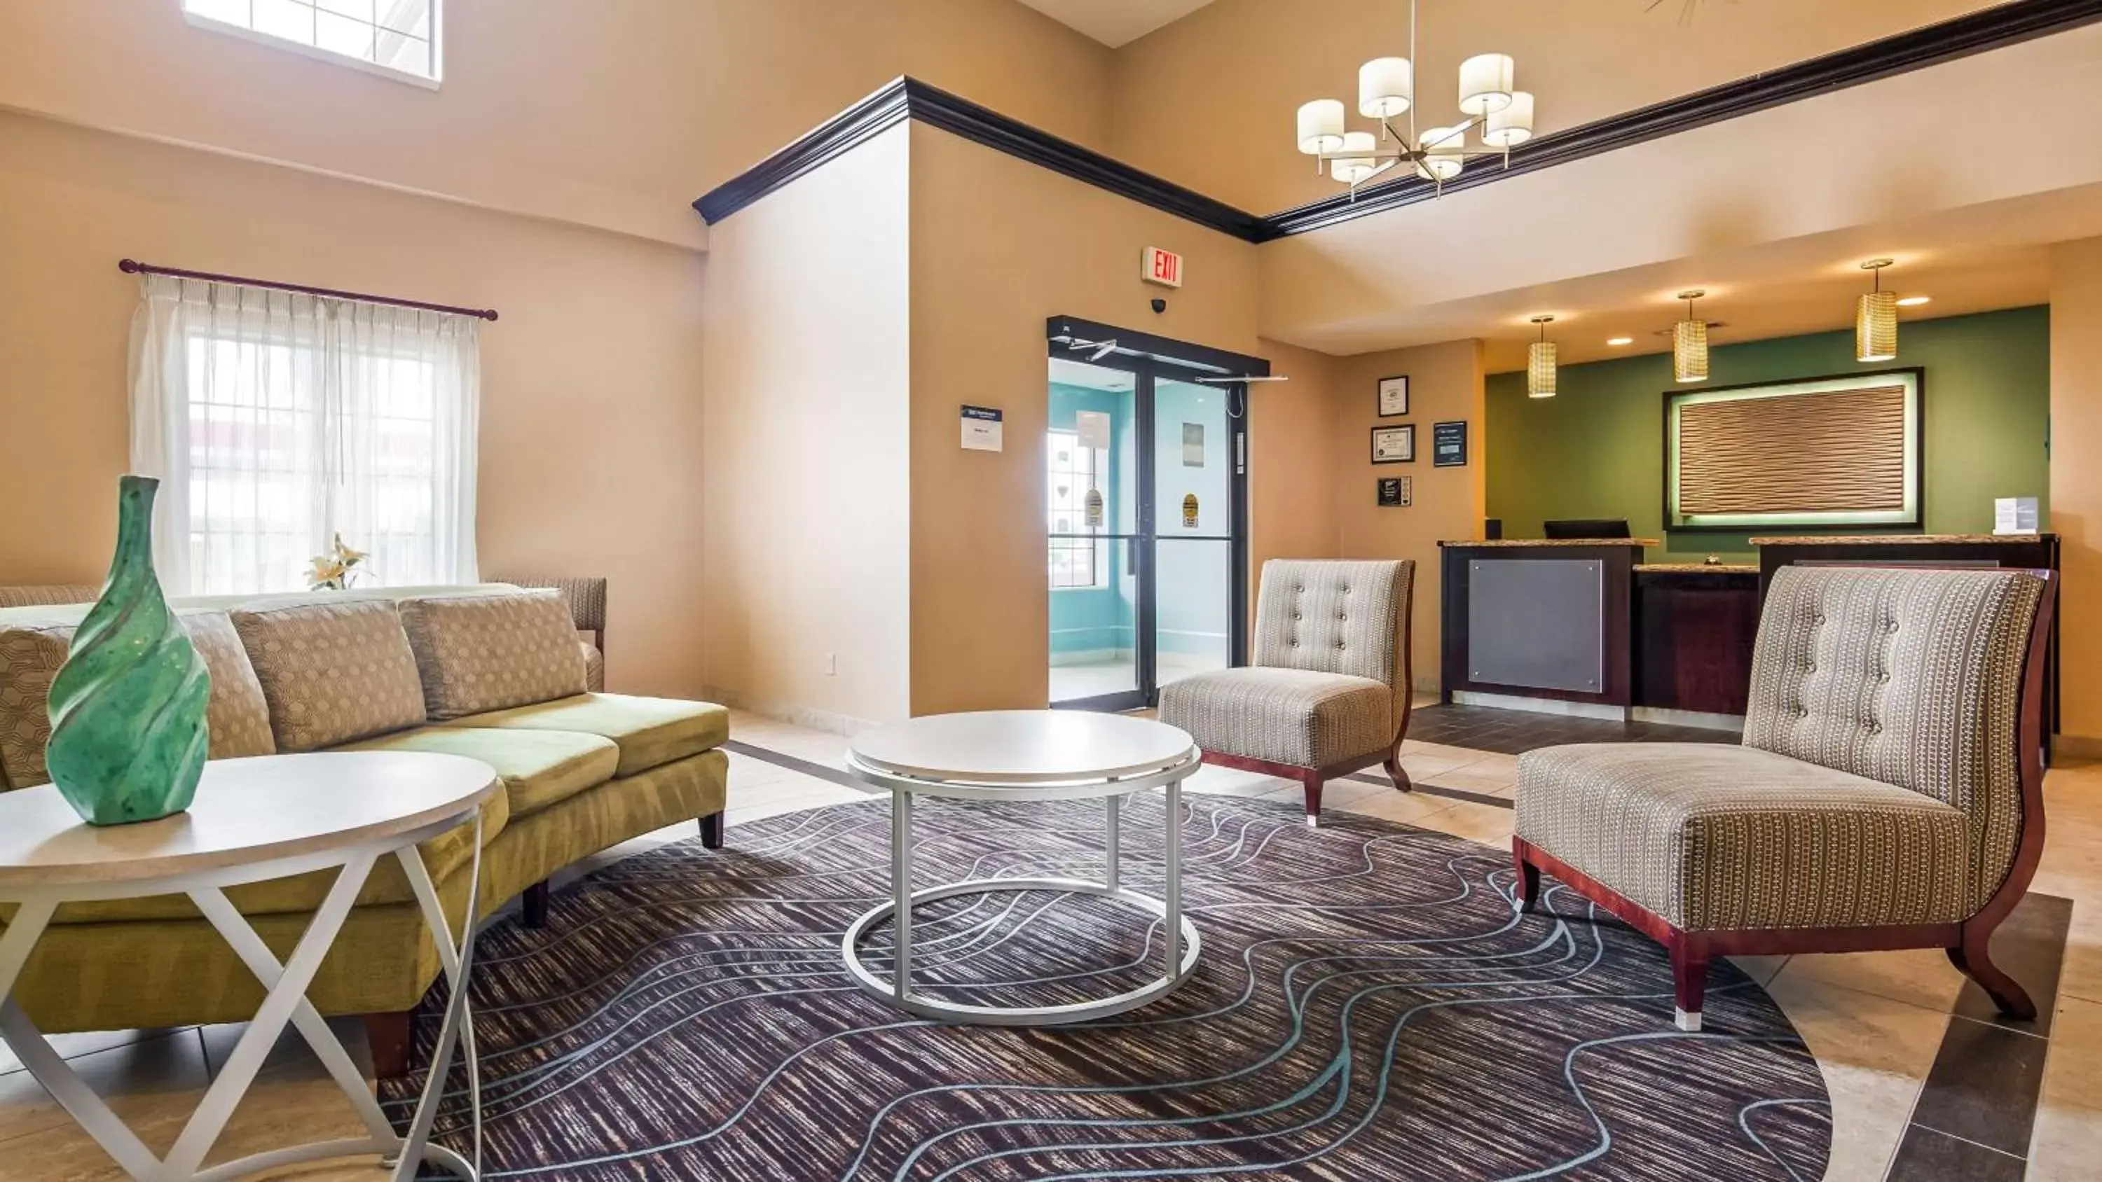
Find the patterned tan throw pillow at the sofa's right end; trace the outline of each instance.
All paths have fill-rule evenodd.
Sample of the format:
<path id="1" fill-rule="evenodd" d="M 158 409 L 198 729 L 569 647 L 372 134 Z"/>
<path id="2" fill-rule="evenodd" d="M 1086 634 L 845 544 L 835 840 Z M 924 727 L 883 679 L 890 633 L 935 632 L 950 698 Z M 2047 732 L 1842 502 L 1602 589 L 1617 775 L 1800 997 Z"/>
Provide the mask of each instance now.
<path id="1" fill-rule="evenodd" d="M 433 720 L 584 693 L 584 653 L 561 592 L 404 598 Z"/>

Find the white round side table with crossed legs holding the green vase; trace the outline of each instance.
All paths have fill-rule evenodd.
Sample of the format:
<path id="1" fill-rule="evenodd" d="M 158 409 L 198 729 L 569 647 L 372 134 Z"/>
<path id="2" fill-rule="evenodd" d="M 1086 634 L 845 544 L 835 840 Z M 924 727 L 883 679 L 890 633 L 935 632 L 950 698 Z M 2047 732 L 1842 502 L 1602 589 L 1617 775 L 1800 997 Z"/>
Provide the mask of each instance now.
<path id="1" fill-rule="evenodd" d="M 132 1178 L 227 1180 L 301 1161 L 378 1153 L 399 1159 L 395 1180 L 408 1182 L 429 1161 L 462 1178 L 479 1178 L 481 1104 L 467 980 L 473 968 L 475 907 L 481 882 L 481 802 L 502 791 L 481 760 L 408 752 L 322 752 L 212 760 L 187 812 L 139 825 L 95 827 L 65 804 L 53 785 L 0 794 L 0 901 L 19 903 L 0 936 L 0 1037 L 23 1067 Z M 469 867 L 467 924 L 458 945 L 416 842 L 458 825 L 475 825 Z M 408 1136 L 395 1134 L 343 1043 L 307 1001 L 307 985 L 349 917 L 366 875 L 393 854 L 408 875 L 425 924 L 450 980 L 431 1075 Z M 341 867 L 290 959 L 277 955 L 248 924 L 225 888 L 315 869 Z M 189 894 L 263 983 L 265 997 L 233 1054 L 219 1069 L 198 1111 L 166 1157 L 139 1140 L 101 1096 L 59 1058 L 13 997 L 15 980 L 61 903 Z M 290 1146 L 204 1169 L 204 1157 L 248 1094 L 263 1056 L 292 1025 L 349 1096 L 370 1136 Z M 477 1161 L 431 1144 L 437 1098 L 446 1090 L 452 1052 L 467 1058 L 473 1092 Z M 4 1174 L 4 1169 L 0 1169 Z"/>

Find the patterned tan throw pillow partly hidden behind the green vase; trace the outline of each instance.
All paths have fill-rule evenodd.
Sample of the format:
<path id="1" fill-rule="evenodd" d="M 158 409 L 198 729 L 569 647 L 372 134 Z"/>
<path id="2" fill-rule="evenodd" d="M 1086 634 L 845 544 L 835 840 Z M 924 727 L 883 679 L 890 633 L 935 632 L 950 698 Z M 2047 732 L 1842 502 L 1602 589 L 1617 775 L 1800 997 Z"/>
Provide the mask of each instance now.
<path id="1" fill-rule="evenodd" d="M 269 756 L 277 743 L 269 708 L 233 621 L 223 611 L 179 613 L 189 642 L 212 674 L 206 705 L 210 758 Z M 0 768 L 8 787 L 48 783 L 44 745 L 50 741 L 50 678 L 74 645 L 71 624 L 0 628 Z"/>

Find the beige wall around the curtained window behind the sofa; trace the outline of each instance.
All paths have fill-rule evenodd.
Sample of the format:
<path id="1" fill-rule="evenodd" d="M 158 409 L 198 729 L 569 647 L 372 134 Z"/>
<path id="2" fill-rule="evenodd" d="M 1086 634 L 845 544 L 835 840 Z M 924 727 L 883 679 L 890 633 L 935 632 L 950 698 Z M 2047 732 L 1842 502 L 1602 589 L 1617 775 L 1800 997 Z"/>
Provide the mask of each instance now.
<path id="1" fill-rule="evenodd" d="M 481 565 L 612 579 L 607 682 L 700 687 L 700 256 L 0 113 L 0 584 L 99 582 L 128 462 L 120 256 L 494 307 Z"/>

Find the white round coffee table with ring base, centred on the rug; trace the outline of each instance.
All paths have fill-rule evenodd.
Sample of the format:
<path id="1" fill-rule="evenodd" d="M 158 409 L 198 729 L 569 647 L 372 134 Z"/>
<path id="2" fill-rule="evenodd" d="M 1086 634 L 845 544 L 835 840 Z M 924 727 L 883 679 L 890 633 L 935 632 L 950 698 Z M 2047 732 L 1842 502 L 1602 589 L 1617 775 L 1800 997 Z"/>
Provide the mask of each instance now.
<path id="1" fill-rule="evenodd" d="M 994 1027 L 1049 1027 L 1122 1014 L 1162 997 L 1196 968 L 1196 924 L 1181 913 L 1181 781 L 1198 768 L 1190 735 L 1143 718 L 1072 710 L 994 710 L 935 714 L 864 731 L 847 747 L 847 768 L 891 794 L 891 901 L 856 920 L 841 953 L 853 980 L 891 1006 L 923 1018 Z M 1167 789 L 1165 899 L 1118 882 L 1120 806 L 1133 791 Z M 1076 878 L 973 878 L 912 890 L 912 798 L 1091 800 L 1108 802 L 1101 882 Z M 967 1006 L 912 993 L 912 905 L 992 890 L 1059 890 L 1139 907 L 1162 920 L 1162 974 L 1127 993 L 1068 1006 Z M 858 945 L 870 926 L 895 915 L 891 980 L 862 964 Z"/>

